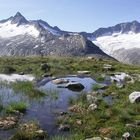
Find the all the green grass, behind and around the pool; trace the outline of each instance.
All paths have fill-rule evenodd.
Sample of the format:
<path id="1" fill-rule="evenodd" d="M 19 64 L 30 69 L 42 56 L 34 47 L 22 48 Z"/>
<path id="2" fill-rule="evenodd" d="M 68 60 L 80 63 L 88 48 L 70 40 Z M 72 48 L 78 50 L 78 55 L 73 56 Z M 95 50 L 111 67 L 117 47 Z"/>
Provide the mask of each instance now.
<path id="1" fill-rule="evenodd" d="M 41 64 L 47 63 L 50 69 L 42 71 Z M 113 70 L 104 70 L 104 64 L 112 65 Z M 128 74 L 140 74 L 140 67 L 121 64 L 109 60 L 87 60 L 86 58 L 71 58 L 71 57 L 3 57 L 0 58 L 0 73 L 25 73 L 33 74 L 36 78 L 41 78 L 44 74 L 51 74 L 53 76 L 65 76 L 67 74 L 77 74 L 77 71 L 88 70 L 91 71 L 91 76 L 97 81 L 103 82 L 105 79 L 102 74 L 110 75 L 114 72 L 126 72 Z M 18 82 L 13 83 L 12 86 L 15 93 L 23 93 L 30 99 L 40 99 L 46 96 L 43 92 L 37 90 L 34 83 Z M 93 90 L 100 89 L 99 85 L 93 86 Z M 127 84 L 124 88 L 117 88 L 115 84 L 110 86 L 103 93 L 104 96 L 111 95 L 115 92 L 113 97 L 113 104 L 109 105 L 103 100 L 99 100 L 98 109 L 95 111 L 88 111 L 89 103 L 86 101 L 86 95 L 82 94 L 77 100 L 71 99 L 71 104 L 77 105 L 80 108 L 79 112 L 72 113 L 68 119 L 63 119 L 61 123 L 68 123 L 71 126 L 70 136 L 55 136 L 51 140 L 84 140 L 94 136 L 109 137 L 113 140 L 121 139 L 124 132 L 130 132 L 134 140 L 140 138 L 140 127 L 126 127 L 126 124 L 134 124 L 135 121 L 140 120 L 140 104 L 130 104 L 128 95 L 133 91 L 140 91 L 140 82 L 136 81 L 134 84 Z M 101 95 L 99 95 L 101 96 Z M 112 95 L 111 95 L 112 96 Z M 58 98 L 57 92 L 51 92 L 51 98 L 56 100 Z M 100 98 L 100 97 L 99 97 Z M 7 112 L 18 110 L 20 112 L 26 111 L 24 103 L 12 103 L 7 107 Z M 3 105 L 0 107 L 3 109 Z M 77 124 L 77 120 L 82 123 Z M 32 125 L 32 132 L 28 129 L 22 131 L 19 129 L 17 134 L 13 137 L 18 139 L 34 139 L 37 131 L 36 125 Z M 106 131 L 103 131 L 106 130 Z M 13 139 L 12 138 L 12 139 Z M 44 136 L 43 136 L 44 138 Z"/>

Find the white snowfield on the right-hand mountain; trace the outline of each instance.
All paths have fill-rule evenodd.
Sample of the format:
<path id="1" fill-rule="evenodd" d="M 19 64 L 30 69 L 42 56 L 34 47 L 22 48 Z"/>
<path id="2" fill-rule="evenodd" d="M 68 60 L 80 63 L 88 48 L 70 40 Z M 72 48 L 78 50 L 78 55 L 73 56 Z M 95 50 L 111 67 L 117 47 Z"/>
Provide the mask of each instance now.
<path id="1" fill-rule="evenodd" d="M 140 33 L 128 32 L 127 34 L 114 33 L 93 40 L 105 53 L 113 56 L 113 52 L 119 49 L 140 48 Z"/>

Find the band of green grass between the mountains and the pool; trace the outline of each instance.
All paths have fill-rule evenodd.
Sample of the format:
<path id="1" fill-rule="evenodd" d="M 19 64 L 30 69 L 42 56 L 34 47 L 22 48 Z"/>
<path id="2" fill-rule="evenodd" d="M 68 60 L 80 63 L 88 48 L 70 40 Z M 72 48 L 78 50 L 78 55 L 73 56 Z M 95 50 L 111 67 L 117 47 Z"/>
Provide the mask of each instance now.
<path id="1" fill-rule="evenodd" d="M 42 63 L 47 63 L 50 70 L 44 72 L 40 69 Z M 105 73 L 104 64 L 113 66 L 114 71 L 123 71 L 127 73 L 140 73 L 138 66 L 130 66 L 121 64 L 112 60 L 93 59 L 87 60 L 85 57 L 2 57 L 0 58 L 0 73 L 21 73 L 33 74 L 41 77 L 43 74 L 67 75 L 75 74 L 79 70 L 89 70 L 92 75 L 100 75 Z M 108 71 L 112 73 L 112 71 Z M 103 80 L 97 78 L 98 80 Z"/>

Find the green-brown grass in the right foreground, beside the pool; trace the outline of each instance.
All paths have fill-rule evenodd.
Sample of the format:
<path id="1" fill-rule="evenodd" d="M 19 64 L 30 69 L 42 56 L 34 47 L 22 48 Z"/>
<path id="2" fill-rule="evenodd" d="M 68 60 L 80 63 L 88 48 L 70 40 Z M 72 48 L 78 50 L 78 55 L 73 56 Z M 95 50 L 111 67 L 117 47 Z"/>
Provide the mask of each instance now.
<path id="1" fill-rule="evenodd" d="M 112 99 L 113 104 L 109 105 L 104 100 L 99 100 L 98 109 L 95 111 L 87 111 L 90 104 L 86 100 L 86 94 L 82 94 L 78 99 L 70 100 L 81 111 L 74 112 L 69 116 L 68 121 L 61 120 L 61 123 L 70 124 L 71 133 L 77 134 L 79 140 L 95 136 L 118 140 L 125 132 L 129 132 L 133 140 L 138 140 L 140 126 L 135 124 L 140 120 L 140 103 L 131 104 L 128 99 L 133 91 L 140 91 L 139 81 L 127 84 L 122 89 L 115 85 L 110 86 L 104 94 L 108 96 L 116 92 L 117 96 Z M 77 120 L 80 120 L 82 124 L 78 125 Z"/>

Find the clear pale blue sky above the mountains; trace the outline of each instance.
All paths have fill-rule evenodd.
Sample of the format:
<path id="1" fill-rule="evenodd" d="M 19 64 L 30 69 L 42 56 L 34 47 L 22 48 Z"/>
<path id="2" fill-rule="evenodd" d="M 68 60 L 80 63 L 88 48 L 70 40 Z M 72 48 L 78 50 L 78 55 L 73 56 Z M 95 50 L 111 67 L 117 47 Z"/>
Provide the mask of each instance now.
<path id="1" fill-rule="evenodd" d="M 140 21 L 140 0 L 1 0 L 0 19 L 19 11 L 63 30 L 93 32 L 99 27 Z"/>

